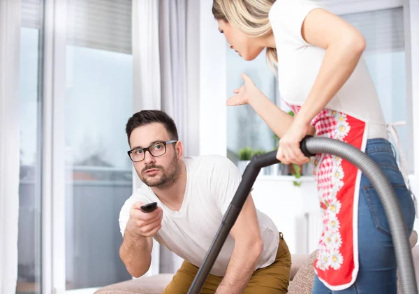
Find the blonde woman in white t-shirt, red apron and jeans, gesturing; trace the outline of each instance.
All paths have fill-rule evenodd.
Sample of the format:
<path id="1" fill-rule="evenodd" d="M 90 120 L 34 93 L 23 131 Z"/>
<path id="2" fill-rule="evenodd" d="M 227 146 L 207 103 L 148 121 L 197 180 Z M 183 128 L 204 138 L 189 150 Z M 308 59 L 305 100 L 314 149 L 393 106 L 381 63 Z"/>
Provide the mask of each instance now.
<path id="1" fill-rule="evenodd" d="M 392 183 L 410 235 L 414 205 L 388 141 L 383 112 L 362 52 L 362 34 L 309 0 L 214 0 L 212 13 L 230 48 L 245 60 L 266 48 L 282 98 L 276 107 L 242 75 L 227 105 L 249 103 L 281 140 L 285 164 L 309 161 L 305 135 L 342 140 L 378 163 Z M 314 158 L 323 233 L 312 293 L 397 293 L 397 265 L 388 221 L 371 183 L 337 156 Z"/>

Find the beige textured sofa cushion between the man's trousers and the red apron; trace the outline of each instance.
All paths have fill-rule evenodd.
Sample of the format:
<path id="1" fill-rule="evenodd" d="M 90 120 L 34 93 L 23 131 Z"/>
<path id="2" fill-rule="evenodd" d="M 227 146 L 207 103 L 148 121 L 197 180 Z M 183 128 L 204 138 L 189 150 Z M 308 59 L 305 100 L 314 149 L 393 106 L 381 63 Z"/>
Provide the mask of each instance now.
<path id="1" fill-rule="evenodd" d="M 288 287 L 288 294 L 311 294 L 311 288 L 313 288 L 314 281 L 314 260 L 317 258 L 318 250 L 314 251 L 309 257 L 302 263 L 300 270 L 290 282 Z"/>

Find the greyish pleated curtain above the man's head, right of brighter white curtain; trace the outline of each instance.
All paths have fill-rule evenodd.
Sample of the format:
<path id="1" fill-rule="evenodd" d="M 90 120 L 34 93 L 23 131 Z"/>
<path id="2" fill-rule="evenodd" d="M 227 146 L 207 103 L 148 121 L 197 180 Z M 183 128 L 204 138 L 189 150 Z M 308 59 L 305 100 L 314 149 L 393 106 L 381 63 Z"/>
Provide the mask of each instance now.
<path id="1" fill-rule="evenodd" d="M 199 88 L 196 88 L 196 94 L 191 93 L 191 87 L 198 85 L 198 80 L 193 80 L 197 78 L 198 60 L 193 60 L 189 52 L 193 50 L 191 43 L 198 44 L 199 35 L 187 34 L 187 24 L 195 27 L 199 24 L 198 20 L 188 23 L 191 18 L 198 17 L 188 13 L 194 7 L 199 8 L 196 3 L 187 0 L 160 0 L 161 109 L 175 120 L 179 139 L 184 143 L 185 156 L 198 155 L 198 129 L 194 127 L 198 126 Z M 198 52 L 198 46 L 195 49 Z M 188 84 L 191 84 L 190 87 Z M 176 272 L 183 262 L 166 247 L 161 247 L 160 254 L 161 272 Z"/>

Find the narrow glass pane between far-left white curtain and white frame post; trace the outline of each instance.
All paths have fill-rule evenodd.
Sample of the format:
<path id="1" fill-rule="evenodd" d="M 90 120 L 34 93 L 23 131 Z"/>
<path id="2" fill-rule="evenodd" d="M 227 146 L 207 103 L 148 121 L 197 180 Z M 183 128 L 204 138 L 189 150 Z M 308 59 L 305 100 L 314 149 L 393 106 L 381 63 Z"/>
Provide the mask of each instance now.
<path id="1" fill-rule="evenodd" d="M 20 186 L 16 293 L 41 292 L 41 101 L 38 29 L 20 30 Z"/>

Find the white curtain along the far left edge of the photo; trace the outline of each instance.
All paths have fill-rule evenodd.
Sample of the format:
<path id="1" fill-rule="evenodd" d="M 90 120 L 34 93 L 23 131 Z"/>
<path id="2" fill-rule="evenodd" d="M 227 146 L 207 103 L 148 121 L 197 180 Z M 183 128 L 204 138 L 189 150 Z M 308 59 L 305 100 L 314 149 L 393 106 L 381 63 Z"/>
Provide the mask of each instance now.
<path id="1" fill-rule="evenodd" d="M 0 1 L 0 293 L 15 293 L 19 213 L 20 1 Z"/>

